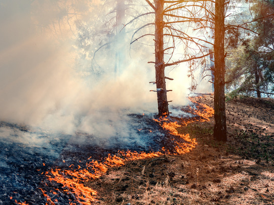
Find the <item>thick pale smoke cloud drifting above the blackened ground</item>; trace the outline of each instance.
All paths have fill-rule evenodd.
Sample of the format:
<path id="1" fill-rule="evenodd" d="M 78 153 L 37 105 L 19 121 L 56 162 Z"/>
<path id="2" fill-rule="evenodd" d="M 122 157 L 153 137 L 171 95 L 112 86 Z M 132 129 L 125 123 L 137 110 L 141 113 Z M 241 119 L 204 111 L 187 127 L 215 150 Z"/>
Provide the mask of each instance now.
<path id="1" fill-rule="evenodd" d="M 132 50 L 120 75 L 109 67 L 100 78 L 83 76 L 73 23 L 95 15 L 80 6 L 84 1 L 14 2 L 4 0 L 0 6 L 0 120 L 108 138 L 129 135 L 127 114 L 157 112 L 156 93 L 149 92 L 155 85 L 148 83 L 155 79 L 153 65 L 147 64 L 153 61 L 151 47 Z M 67 17 L 71 6 L 83 13 L 74 21 Z M 98 58 L 104 66 L 113 63 L 104 51 Z M 174 78 L 167 80 L 167 89 L 173 90 L 168 100 L 186 104 L 187 68 L 166 75 Z"/>

